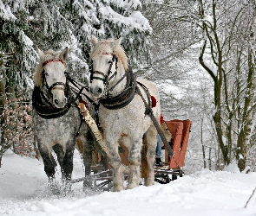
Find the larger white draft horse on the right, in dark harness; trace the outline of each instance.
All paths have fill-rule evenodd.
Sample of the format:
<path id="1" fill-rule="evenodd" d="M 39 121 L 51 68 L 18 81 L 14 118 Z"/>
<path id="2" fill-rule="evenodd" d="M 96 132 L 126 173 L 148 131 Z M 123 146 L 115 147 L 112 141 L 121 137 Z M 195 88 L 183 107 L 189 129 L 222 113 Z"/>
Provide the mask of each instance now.
<path id="1" fill-rule="evenodd" d="M 147 107 L 152 107 L 156 119 L 160 118 L 158 90 L 151 81 L 135 79 L 128 68 L 128 58 L 121 48 L 121 38 L 98 41 L 92 35 L 91 42 L 94 49 L 90 56 L 93 60 L 90 92 L 95 98 L 100 99 L 99 122 L 114 173 L 113 190 L 124 189 L 121 158 L 118 154 L 120 144 L 126 146 L 129 151 L 127 188 L 139 186 L 143 136 L 146 137 L 148 148 L 148 175 L 145 178 L 145 185 L 151 186 L 154 184 L 157 130 L 147 114 Z"/>

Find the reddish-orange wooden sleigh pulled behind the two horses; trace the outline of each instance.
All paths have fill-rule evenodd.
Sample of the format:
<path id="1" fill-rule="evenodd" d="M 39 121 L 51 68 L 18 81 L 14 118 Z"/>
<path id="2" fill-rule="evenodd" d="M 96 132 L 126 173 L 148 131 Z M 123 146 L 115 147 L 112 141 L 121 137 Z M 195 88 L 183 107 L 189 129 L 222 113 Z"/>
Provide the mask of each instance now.
<path id="1" fill-rule="evenodd" d="M 87 116 L 88 118 L 89 116 Z M 174 181 L 178 176 L 182 177 L 184 172 L 182 167 L 185 165 L 185 156 L 187 152 L 187 143 L 189 139 L 189 132 L 192 125 L 192 121 L 174 119 L 170 121 L 165 121 L 165 126 L 167 127 L 167 132 L 171 134 L 171 142 L 169 142 L 170 147 L 174 153 L 173 156 L 169 156 L 167 148 L 162 146 L 162 158 L 164 165 L 161 167 L 154 167 L 154 181 L 161 184 L 167 184 L 170 181 Z M 95 131 L 97 131 L 95 129 Z M 101 134 L 95 135 L 98 141 L 101 142 Z M 143 137 L 142 151 L 147 149 L 145 144 L 145 137 Z M 113 173 L 108 162 L 108 156 L 102 150 L 100 145 L 95 148 L 93 154 L 93 164 L 91 166 L 90 180 L 92 180 L 93 187 L 100 188 L 102 190 L 110 190 L 112 187 Z M 121 157 L 122 169 L 125 174 L 125 178 L 128 178 L 128 149 L 124 145 L 119 147 L 119 156 Z M 145 175 L 147 175 L 147 170 L 143 162 L 146 158 L 141 158 L 141 181 Z M 84 181 L 85 178 L 80 178 L 72 180 L 72 183 Z"/>

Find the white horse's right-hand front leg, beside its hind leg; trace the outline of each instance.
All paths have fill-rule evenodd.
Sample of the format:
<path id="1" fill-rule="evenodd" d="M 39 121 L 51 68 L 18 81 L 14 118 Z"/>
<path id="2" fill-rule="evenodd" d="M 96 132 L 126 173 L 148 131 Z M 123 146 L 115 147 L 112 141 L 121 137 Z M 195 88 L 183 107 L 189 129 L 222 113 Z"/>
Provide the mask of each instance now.
<path id="1" fill-rule="evenodd" d="M 141 181 L 141 138 L 134 138 L 132 148 L 129 149 L 129 175 L 128 175 L 128 189 L 138 187 Z"/>

